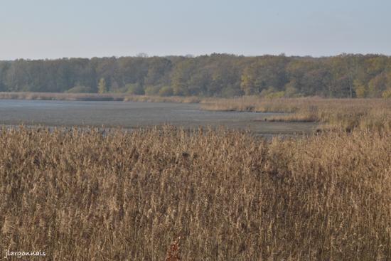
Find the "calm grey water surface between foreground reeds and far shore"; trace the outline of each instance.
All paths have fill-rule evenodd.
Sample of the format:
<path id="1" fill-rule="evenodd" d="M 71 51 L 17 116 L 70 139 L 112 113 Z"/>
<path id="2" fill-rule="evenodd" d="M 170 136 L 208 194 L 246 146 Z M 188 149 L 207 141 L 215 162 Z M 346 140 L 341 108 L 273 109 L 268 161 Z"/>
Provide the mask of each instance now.
<path id="1" fill-rule="evenodd" d="M 173 124 L 250 129 L 255 134 L 309 133 L 315 127 L 312 123 L 264 122 L 270 115 L 205 111 L 198 104 L 188 103 L 0 100 L 0 124 L 11 125 L 134 128 Z"/>

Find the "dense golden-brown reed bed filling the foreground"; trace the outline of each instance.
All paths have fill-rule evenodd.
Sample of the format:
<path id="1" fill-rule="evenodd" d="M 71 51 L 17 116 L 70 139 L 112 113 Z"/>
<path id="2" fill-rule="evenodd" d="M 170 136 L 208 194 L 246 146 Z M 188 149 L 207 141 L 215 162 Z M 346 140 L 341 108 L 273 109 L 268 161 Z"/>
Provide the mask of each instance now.
<path id="1" fill-rule="evenodd" d="M 391 133 L 1 129 L 0 250 L 390 260 Z M 36 260 L 39 260 L 37 257 Z"/>

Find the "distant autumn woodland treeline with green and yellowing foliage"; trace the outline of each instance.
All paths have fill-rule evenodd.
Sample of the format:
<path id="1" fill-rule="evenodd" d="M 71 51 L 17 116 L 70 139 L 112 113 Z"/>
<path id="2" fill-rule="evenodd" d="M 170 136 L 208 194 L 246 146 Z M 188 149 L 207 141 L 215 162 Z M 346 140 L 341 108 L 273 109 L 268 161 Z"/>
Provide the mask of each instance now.
<path id="1" fill-rule="evenodd" d="M 0 61 L 2 92 L 391 97 L 391 57 L 227 54 Z"/>

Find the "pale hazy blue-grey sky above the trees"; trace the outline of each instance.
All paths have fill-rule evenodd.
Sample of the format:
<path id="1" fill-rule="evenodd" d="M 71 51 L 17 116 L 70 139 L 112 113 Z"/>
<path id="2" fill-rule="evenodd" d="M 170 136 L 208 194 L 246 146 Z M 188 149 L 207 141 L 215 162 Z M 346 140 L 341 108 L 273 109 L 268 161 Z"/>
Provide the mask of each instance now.
<path id="1" fill-rule="evenodd" d="M 391 55 L 391 0 L 4 0 L 0 60 Z"/>

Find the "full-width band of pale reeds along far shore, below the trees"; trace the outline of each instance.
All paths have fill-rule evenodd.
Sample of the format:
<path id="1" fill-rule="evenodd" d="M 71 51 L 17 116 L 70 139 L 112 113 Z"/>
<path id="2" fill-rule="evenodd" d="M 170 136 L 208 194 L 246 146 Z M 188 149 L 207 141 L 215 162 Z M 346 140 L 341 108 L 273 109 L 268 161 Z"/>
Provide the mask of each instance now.
<path id="1" fill-rule="evenodd" d="M 115 93 L 0 92 L 1 99 L 200 103 L 202 110 L 284 112 L 282 115 L 274 115 L 266 119 L 273 122 L 318 122 L 319 129 L 322 130 L 341 129 L 350 132 L 353 129 L 385 129 L 391 131 L 391 99 L 323 99 L 321 97 L 267 99 L 257 96 L 219 98 Z"/>

